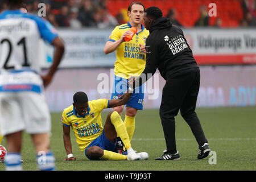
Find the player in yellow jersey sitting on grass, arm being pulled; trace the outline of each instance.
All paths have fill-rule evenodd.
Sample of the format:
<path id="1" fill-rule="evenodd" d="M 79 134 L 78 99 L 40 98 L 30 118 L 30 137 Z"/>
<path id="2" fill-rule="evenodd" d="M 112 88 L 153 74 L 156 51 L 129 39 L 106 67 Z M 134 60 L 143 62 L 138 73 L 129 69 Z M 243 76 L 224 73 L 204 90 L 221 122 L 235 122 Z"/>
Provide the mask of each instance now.
<path id="1" fill-rule="evenodd" d="M 101 111 L 106 108 L 116 107 L 126 102 L 131 94 L 125 93 L 117 100 L 99 99 L 88 101 L 84 92 L 77 92 L 73 96 L 73 105 L 64 109 L 62 114 L 63 140 L 68 158 L 64 160 L 76 160 L 72 154 L 70 128 L 76 137 L 76 142 L 81 151 L 90 160 L 146 160 L 148 154 L 136 152 L 131 148 L 129 136 L 125 125 L 117 113 L 111 111 L 102 126 Z M 114 152 L 117 135 L 122 139 L 127 148 L 127 155 Z"/>

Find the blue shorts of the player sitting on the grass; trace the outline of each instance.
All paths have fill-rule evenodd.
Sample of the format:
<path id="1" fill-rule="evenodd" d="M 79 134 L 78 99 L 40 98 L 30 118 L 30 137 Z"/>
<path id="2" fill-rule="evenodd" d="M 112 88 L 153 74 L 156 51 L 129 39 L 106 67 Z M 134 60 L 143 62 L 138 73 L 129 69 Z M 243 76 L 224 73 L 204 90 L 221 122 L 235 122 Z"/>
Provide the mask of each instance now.
<path id="1" fill-rule="evenodd" d="M 93 160 L 89 158 L 89 156 L 86 154 L 87 149 L 92 146 L 98 146 L 101 147 L 103 150 L 108 150 L 108 151 L 114 151 L 115 147 L 117 146 L 117 140 L 115 143 L 110 142 L 108 138 L 106 138 L 106 135 L 104 133 L 104 130 L 100 136 L 98 136 L 96 139 L 94 139 L 89 146 L 85 148 L 85 155 L 88 159 Z"/>

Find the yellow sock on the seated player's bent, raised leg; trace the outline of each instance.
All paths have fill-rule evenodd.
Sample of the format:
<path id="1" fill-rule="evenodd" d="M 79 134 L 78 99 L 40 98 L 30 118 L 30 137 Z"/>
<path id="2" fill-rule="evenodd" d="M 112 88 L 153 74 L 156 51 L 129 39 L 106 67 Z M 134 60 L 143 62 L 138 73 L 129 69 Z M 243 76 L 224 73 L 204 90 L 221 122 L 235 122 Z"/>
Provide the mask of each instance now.
<path id="1" fill-rule="evenodd" d="M 114 111 L 111 114 L 110 120 L 115 127 L 115 131 L 117 131 L 117 135 L 121 138 L 126 149 L 129 149 L 131 147 L 129 135 L 127 134 L 125 124 L 123 123 L 122 118 L 117 113 L 117 111 Z"/>

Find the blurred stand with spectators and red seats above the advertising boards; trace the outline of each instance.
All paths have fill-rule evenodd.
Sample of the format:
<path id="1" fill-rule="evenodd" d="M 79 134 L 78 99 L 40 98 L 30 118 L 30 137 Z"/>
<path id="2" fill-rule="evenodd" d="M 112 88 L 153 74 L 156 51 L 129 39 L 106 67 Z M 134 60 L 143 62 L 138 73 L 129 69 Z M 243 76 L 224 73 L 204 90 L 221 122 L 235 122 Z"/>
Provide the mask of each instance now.
<path id="1" fill-rule="evenodd" d="M 138 0 L 139 1 L 139 0 Z M 113 28 L 127 23 L 127 7 L 134 0 L 24 0 L 29 13 L 37 14 L 39 3 L 46 4 L 46 19 L 55 27 Z M 256 27 L 256 0 L 141 0 L 147 8 L 158 6 L 163 16 L 177 26 Z M 216 3 L 217 16 L 208 15 Z M 0 0 L 0 11 L 5 9 Z"/>

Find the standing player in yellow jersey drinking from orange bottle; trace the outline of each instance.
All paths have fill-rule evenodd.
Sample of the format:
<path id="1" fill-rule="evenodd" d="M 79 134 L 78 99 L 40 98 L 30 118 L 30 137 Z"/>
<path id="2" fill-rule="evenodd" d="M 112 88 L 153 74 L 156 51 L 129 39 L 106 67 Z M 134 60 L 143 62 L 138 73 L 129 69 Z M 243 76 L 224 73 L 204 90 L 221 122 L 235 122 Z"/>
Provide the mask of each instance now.
<path id="1" fill-rule="evenodd" d="M 115 51 L 115 55 L 117 56 L 114 68 L 115 76 L 111 96 L 112 99 L 118 98 L 122 93 L 126 92 L 128 89 L 128 78 L 141 75 L 146 64 L 146 54 L 143 51 L 149 32 L 141 24 L 144 10 L 145 8 L 142 3 L 131 3 L 127 13 L 130 18 L 129 22 L 115 27 L 108 42 L 105 44 L 104 52 L 108 54 Z M 137 33 L 130 42 L 125 42 L 123 38 L 130 34 L 131 27 L 136 27 Z M 137 114 L 137 110 L 143 109 L 143 91 L 143 85 L 135 89 L 135 93 L 126 104 L 124 122 L 130 141 L 135 129 L 135 115 Z M 123 107 L 124 105 L 114 107 L 113 110 L 121 115 Z"/>

